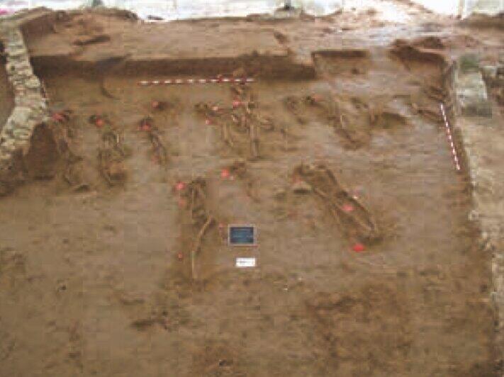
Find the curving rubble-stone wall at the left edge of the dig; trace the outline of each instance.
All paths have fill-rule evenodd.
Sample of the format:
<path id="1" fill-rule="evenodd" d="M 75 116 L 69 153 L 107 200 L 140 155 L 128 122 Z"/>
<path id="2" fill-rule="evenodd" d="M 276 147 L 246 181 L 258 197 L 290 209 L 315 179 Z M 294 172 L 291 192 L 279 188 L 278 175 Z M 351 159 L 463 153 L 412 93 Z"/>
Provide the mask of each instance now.
<path id="1" fill-rule="evenodd" d="M 13 165 L 30 149 L 35 127 L 47 120 L 47 103 L 42 84 L 33 74 L 18 15 L 0 20 L 0 40 L 6 54 L 6 72 L 13 88 L 15 107 L 0 133 L 0 194 L 9 191 Z"/>

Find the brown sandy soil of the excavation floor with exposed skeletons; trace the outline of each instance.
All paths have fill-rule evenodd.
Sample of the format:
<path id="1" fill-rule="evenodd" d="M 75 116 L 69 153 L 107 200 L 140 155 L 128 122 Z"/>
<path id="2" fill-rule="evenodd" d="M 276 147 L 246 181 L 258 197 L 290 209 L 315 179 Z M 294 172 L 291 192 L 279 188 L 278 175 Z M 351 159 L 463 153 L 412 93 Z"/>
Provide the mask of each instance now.
<path id="1" fill-rule="evenodd" d="M 145 72 L 35 67 L 71 112 L 34 152 L 46 179 L 0 201 L 0 375 L 498 376 L 489 256 L 436 112 L 445 60 L 468 47 L 429 17 L 268 26 L 271 48 L 318 51 L 311 80 L 143 87 Z M 264 29 L 187 25 L 216 51 L 213 30 L 245 22 Z M 77 34 L 47 37 L 53 55 Z M 229 247 L 230 223 L 257 225 L 258 246 Z"/>

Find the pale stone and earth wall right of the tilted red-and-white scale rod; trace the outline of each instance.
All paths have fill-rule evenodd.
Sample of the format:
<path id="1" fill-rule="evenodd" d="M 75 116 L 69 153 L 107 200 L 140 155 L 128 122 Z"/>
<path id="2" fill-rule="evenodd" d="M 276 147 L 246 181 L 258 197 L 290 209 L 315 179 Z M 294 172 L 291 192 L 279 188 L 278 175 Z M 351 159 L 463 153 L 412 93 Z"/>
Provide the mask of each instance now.
<path id="1" fill-rule="evenodd" d="M 482 91 L 486 99 L 486 86 L 481 77 L 471 74 L 471 79 L 467 79 L 466 73 L 458 71 L 454 74 L 452 88 L 457 99 L 455 131 L 460 136 L 471 182 L 473 203 L 469 219 L 478 227 L 481 252 L 492 255 L 495 341 L 500 361 L 504 361 L 504 128 L 498 111 L 494 111 L 493 117 L 488 113 L 491 102 L 481 101 Z M 493 72 L 493 69 L 483 69 L 483 74 L 488 71 Z M 474 94 L 469 96 L 474 101 L 468 102 L 468 92 Z M 469 106 L 471 111 L 464 110 L 464 106 Z"/>

